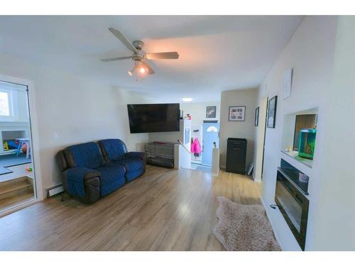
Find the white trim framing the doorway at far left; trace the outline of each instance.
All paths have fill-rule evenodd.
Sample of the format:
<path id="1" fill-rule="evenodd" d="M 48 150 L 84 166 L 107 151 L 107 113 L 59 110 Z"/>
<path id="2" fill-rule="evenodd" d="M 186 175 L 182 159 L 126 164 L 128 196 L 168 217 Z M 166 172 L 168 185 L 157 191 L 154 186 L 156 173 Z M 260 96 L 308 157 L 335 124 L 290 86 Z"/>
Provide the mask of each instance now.
<path id="1" fill-rule="evenodd" d="M 41 201 L 44 199 L 45 192 L 43 190 L 43 179 L 40 174 L 40 153 L 39 153 L 39 135 L 38 135 L 38 119 L 37 111 L 35 109 L 35 86 L 31 80 L 20 79 L 0 74 L 0 81 L 11 82 L 14 84 L 21 84 L 27 86 L 28 89 L 28 109 L 30 113 L 30 126 L 31 126 L 31 147 L 33 156 L 33 169 L 34 169 L 34 185 L 35 185 L 35 199 Z"/>

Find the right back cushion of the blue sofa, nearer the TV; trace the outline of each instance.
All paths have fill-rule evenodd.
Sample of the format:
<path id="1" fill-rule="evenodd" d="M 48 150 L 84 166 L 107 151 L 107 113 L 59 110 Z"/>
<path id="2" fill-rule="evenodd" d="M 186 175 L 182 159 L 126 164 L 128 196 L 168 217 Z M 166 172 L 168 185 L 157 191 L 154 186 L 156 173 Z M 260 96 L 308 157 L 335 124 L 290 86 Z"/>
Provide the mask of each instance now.
<path id="1" fill-rule="evenodd" d="M 107 161 L 121 160 L 127 153 L 126 145 L 118 138 L 100 140 L 99 145 L 102 149 L 102 154 Z"/>

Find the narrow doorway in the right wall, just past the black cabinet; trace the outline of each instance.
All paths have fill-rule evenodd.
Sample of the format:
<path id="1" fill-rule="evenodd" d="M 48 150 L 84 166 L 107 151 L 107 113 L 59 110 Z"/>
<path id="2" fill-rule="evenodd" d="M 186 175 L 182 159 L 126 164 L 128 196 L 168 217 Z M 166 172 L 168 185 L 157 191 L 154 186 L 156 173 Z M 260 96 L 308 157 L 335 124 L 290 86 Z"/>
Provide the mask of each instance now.
<path id="1" fill-rule="evenodd" d="M 264 158 L 264 147 L 266 138 L 266 118 L 268 111 L 268 97 L 261 98 L 260 111 L 259 111 L 259 121 L 256 134 L 256 164 L 255 164 L 255 174 L 253 176 L 255 181 L 261 181 L 263 178 L 263 158 Z"/>

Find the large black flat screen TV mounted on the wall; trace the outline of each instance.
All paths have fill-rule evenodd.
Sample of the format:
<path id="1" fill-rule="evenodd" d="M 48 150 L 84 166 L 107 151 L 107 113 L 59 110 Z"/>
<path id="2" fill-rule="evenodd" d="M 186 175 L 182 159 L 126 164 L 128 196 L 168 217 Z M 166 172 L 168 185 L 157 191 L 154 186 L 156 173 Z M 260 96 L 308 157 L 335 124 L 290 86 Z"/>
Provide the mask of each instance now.
<path id="1" fill-rule="evenodd" d="M 180 131 L 180 104 L 127 104 L 131 133 Z"/>

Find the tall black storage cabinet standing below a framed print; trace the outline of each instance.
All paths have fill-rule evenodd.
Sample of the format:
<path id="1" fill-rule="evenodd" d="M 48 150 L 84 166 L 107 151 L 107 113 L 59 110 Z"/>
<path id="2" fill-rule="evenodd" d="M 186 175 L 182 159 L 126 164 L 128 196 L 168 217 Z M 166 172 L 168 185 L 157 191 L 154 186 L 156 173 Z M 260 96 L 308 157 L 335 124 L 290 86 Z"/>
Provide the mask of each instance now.
<path id="1" fill-rule="evenodd" d="M 226 172 L 245 174 L 246 139 L 228 138 L 226 145 Z"/>

